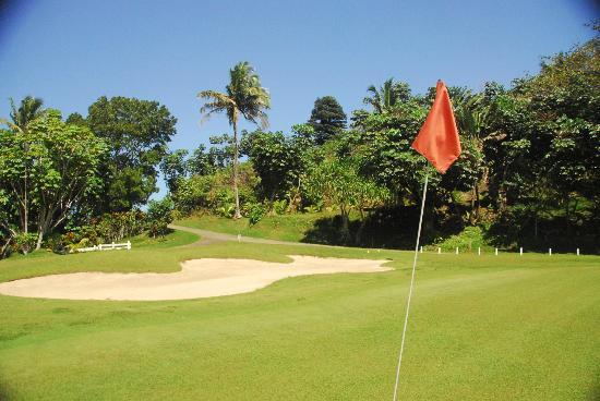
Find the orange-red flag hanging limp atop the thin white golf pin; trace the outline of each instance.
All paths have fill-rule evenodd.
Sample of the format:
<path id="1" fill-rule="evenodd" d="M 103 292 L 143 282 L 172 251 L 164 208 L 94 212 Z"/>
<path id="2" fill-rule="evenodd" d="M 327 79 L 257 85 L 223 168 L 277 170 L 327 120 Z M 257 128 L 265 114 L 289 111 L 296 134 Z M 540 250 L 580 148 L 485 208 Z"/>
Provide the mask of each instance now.
<path id="1" fill-rule="evenodd" d="M 437 81 L 435 100 L 425 123 L 412 143 L 412 148 L 423 155 L 441 173 L 460 156 L 460 141 L 452 112 L 448 89 Z"/>

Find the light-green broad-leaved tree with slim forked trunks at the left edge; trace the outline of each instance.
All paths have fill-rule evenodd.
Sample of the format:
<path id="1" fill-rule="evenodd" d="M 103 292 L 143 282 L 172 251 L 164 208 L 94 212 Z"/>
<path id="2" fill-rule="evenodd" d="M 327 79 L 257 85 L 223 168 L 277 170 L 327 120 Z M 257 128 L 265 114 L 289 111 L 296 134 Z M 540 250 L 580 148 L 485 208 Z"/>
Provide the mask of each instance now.
<path id="1" fill-rule="evenodd" d="M 37 218 L 37 246 L 59 227 L 92 192 L 100 187 L 98 167 L 107 146 L 89 129 L 67 124 L 57 110 L 48 110 L 20 135 L 0 131 L 0 193 L 17 205 L 21 231 L 23 216 Z M 25 171 L 31 185 L 25 187 Z M 32 199 L 25 204 L 27 195 Z M 5 200 L 5 199 L 4 199 Z M 31 209 L 31 210 L 27 210 Z"/>

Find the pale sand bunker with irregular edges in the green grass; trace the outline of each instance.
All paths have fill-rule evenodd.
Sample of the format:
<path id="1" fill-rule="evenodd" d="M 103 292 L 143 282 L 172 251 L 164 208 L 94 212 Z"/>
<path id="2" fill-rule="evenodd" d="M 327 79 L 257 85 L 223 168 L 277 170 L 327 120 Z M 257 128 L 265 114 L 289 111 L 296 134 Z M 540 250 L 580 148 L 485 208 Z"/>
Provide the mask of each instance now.
<path id="1" fill-rule="evenodd" d="M 376 272 L 386 260 L 290 256 L 291 264 L 249 259 L 194 259 L 172 274 L 75 272 L 0 283 L 0 294 L 63 300 L 189 300 L 251 292 L 288 277 Z"/>

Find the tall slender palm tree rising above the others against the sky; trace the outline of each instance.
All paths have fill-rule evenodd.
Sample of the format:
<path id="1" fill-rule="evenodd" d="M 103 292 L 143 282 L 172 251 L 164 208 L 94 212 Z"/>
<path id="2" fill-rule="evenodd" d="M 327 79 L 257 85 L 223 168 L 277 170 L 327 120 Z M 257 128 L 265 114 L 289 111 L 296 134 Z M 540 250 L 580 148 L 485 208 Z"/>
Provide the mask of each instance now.
<path id="1" fill-rule="evenodd" d="M 229 84 L 225 93 L 202 90 L 197 97 L 206 100 L 200 109 L 202 121 L 206 121 L 215 113 L 227 114 L 229 125 L 233 129 L 233 192 L 236 194 L 236 214 L 233 218 L 241 218 L 240 196 L 238 191 L 238 123 L 240 116 L 245 120 L 260 125 L 268 126 L 267 116 L 263 111 L 271 107 L 268 92 L 261 86 L 261 80 L 248 61 L 240 62 L 229 70 Z"/>

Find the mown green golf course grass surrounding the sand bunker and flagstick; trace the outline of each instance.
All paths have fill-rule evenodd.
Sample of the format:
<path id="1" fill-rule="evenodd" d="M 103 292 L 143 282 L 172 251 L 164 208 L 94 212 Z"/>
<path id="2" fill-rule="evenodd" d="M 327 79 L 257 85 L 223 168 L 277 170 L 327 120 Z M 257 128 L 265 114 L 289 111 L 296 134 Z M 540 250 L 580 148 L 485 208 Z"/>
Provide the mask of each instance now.
<path id="1" fill-rule="evenodd" d="M 412 254 L 361 248 L 139 247 L 0 262 L 0 281 L 173 271 L 203 256 L 379 257 L 394 271 L 278 281 L 172 302 L 0 296 L 0 400 L 391 399 Z M 596 400 L 600 258 L 420 255 L 403 400 Z"/>

